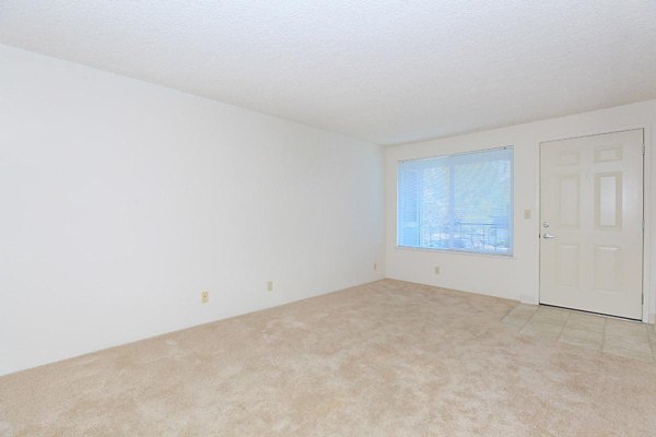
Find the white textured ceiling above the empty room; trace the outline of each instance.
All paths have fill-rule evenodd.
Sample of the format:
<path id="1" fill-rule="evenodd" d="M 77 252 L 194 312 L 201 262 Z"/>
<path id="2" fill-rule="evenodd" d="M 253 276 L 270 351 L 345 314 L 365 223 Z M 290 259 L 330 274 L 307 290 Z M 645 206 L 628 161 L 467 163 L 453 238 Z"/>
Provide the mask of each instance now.
<path id="1" fill-rule="evenodd" d="M 2 0 L 0 43 L 379 144 L 656 97 L 655 0 Z"/>

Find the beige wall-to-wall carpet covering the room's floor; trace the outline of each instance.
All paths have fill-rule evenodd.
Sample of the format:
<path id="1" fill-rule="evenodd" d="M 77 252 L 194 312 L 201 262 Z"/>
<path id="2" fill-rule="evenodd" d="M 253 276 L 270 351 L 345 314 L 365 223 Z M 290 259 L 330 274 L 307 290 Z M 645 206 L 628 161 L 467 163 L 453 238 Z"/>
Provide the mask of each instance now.
<path id="1" fill-rule="evenodd" d="M 0 378 L 1 436 L 656 436 L 656 366 L 379 281 Z"/>

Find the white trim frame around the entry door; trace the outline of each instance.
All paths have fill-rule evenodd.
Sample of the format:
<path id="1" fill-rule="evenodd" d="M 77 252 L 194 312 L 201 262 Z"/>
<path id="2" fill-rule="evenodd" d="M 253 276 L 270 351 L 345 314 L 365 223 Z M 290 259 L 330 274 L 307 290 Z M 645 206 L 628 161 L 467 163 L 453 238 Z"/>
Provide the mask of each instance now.
<path id="1" fill-rule="evenodd" d="M 581 134 L 581 135 L 572 135 L 572 137 L 564 137 L 564 138 L 555 138 L 555 139 L 550 139 L 550 140 L 543 140 L 543 141 L 538 141 L 538 186 L 537 186 L 537 196 L 538 196 L 538 232 L 537 232 L 537 237 L 538 237 L 538 304 L 540 304 L 540 296 L 541 296 L 541 245 L 542 245 L 542 238 L 540 237 L 540 233 L 541 233 L 541 228 L 540 228 L 540 221 L 542 217 L 542 197 L 541 197 L 541 188 L 542 188 L 542 144 L 544 143 L 550 143 L 550 142 L 557 142 L 557 141 L 563 141 L 563 140 L 574 140 L 574 139 L 578 139 L 578 138 L 587 138 L 587 137 L 597 137 L 597 135 L 604 135 L 604 134 L 610 134 L 610 133 L 621 133 L 621 132 L 628 132 L 628 131 L 632 131 L 632 130 L 642 130 L 642 138 L 643 138 L 643 235 L 642 235 L 642 321 L 645 323 L 654 323 L 655 320 L 649 320 L 649 309 L 653 306 L 653 302 L 655 300 L 655 296 L 654 296 L 654 291 L 652 291 L 652 286 L 651 286 L 651 276 L 649 276 L 649 264 L 651 264 L 651 249 L 652 249 L 652 245 L 648 244 L 648 241 L 651 241 L 651 237 L 652 237 L 652 216 L 649 214 L 651 210 L 652 210 L 652 202 L 651 202 L 651 198 L 652 198 L 652 189 L 651 189 L 651 184 L 647 184 L 647 181 L 652 180 L 652 166 L 651 166 L 651 161 L 652 161 L 652 147 L 651 147 L 651 132 L 647 126 L 635 126 L 635 127 L 626 127 L 625 129 L 614 129 L 611 131 L 606 131 L 606 132 L 597 132 L 597 133 L 587 133 L 587 134 Z M 654 315 L 652 315 L 653 317 Z M 656 328 L 655 328 L 656 329 Z"/>

